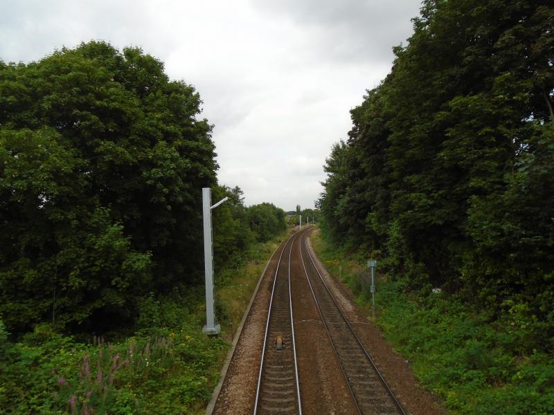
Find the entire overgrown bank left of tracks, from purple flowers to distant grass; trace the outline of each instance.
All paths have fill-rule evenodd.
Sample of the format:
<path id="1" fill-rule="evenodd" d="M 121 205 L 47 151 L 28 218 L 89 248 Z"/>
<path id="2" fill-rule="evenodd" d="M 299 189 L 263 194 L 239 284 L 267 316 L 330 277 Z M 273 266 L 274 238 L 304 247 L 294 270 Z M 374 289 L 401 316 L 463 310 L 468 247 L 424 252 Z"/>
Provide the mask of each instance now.
<path id="1" fill-rule="evenodd" d="M 202 333 L 203 286 L 145 297 L 132 335 L 74 338 L 42 324 L 12 343 L 0 326 L 0 414 L 202 414 L 277 245 L 255 244 L 216 270 L 219 338 Z"/>

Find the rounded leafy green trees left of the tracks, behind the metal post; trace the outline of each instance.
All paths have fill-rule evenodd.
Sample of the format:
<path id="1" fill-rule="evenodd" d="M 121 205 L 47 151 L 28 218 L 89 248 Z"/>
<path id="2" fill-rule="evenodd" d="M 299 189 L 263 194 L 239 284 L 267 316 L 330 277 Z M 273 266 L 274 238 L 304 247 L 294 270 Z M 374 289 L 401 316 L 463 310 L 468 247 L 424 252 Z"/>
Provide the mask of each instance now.
<path id="1" fill-rule="evenodd" d="M 139 48 L 104 42 L 0 61 L 0 320 L 102 333 L 139 301 L 202 282 L 202 187 L 217 266 L 285 228 L 217 185 L 212 126 L 193 86 Z"/>

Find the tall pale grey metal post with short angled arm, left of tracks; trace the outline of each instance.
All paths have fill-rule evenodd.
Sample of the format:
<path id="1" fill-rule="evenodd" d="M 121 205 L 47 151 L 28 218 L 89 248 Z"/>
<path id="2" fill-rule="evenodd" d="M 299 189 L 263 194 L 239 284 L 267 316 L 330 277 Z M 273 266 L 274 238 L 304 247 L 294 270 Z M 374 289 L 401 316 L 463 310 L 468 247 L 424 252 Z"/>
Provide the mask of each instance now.
<path id="1" fill-rule="evenodd" d="M 215 324 L 213 315 L 213 234 L 212 234 L 212 209 L 217 208 L 224 201 L 225 197 L 215 205 L 212 203 L 212 192 L 210 187 L 202 188 L 202 216 L 204 216 L 204 277 L 206 279 L 206 326 L 202 329 L 207 335 L 217 335 L 221 332 L 221 326 Z"/>

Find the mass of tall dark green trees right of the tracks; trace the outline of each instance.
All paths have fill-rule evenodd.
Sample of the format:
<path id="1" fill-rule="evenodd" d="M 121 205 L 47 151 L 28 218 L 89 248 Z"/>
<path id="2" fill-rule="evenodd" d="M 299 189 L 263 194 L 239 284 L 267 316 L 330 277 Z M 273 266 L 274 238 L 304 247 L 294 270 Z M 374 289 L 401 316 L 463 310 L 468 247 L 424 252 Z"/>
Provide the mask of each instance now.
<path id="1" fill-rule="evenodd" d="M 319 200 L 330 237 L 554 334 L 554 8 L 424 1 L 351 112 Z"/>

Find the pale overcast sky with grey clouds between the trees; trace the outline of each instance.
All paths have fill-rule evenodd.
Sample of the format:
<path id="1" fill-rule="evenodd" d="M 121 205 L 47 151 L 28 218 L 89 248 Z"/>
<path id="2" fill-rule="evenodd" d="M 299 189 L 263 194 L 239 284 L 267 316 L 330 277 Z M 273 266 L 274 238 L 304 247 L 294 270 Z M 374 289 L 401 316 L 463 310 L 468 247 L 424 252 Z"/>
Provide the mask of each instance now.
<path id="1" fill-rule="evenodd" d="M 419 0 L 0 0 L 0 59 L 102 39 L 141 46 L 193 84 L 220 183 L 245 203 L 311 208 L 350 109 L 391 69 Z"/>

